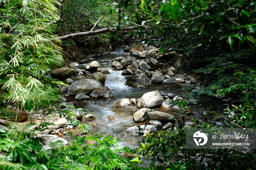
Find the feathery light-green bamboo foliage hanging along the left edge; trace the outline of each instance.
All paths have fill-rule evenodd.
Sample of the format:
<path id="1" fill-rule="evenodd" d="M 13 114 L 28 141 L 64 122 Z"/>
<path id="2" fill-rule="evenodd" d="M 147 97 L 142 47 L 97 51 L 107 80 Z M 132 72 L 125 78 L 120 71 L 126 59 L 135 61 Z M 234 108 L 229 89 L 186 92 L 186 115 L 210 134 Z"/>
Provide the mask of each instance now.
<path id="1" fill-rule="evenodd" d="M 59 93 L 46 74 L 63 63 L 61 49 L 51 42 L 58 19 L 56 1 L 0 1 L 1 100 L 28 110 L 50 107 Z"/>

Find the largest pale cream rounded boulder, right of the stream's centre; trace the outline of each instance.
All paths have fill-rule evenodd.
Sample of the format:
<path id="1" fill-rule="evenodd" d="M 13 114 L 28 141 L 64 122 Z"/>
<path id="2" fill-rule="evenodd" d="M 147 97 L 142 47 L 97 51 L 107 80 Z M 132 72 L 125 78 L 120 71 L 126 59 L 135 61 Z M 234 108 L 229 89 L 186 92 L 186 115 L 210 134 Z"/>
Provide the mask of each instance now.
<path id="1" fill-rule="evenodd" d="M 139 99 L 138 108 L 152 108 L 162 104 L 163 97 L 158 91 L 147 92 Z"/>

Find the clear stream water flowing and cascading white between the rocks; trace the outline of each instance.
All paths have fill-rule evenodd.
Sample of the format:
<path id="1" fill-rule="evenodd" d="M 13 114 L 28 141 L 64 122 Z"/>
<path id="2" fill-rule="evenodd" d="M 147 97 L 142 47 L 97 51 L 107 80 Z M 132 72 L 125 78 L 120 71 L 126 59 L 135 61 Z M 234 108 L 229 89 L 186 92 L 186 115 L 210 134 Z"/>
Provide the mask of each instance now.
<path id="1" fill-rule="evenodd" d="M 128 53 L 123 52 L 114 52 L 110 53 L 109 55 L 106 55 L 102 58 L 96 58 L 95 61 L 98 61 L 101 65 L 101 68 L 108 68 L 110 74 L 106 74 L 106 81 L 105 86 L 110 88 L 112 90 L 112 93 L 114 95 L 114 98 L 108 99 L 108 100 L 94 100 L 90 99 L 86 102 L 76 102 L 77 108 L 83 108 L 88 109 L 87 114 L 94 115 L 97 119 L 97 126 L 93 127 L 91 126 L 91 133 L 93 134 L 100 134 L 100 133 L 106 133 L 106 135 L 113 135 L 117 139 L 126 139 L 127 142 L 123 142 L 123 144 L 129 147 L 136 146 L 136 143 L 138 142 L 139 138 L 136 136 L 131 136 L 129 134 L 125 133 L 125 130 L 129 127 L 132 127 L 134 125 L 142 124 L 142 123 L 135 123 L 133 121 L 132 115 L 138 111 L 139 109 L 136 108 L 135 105 L 131 105 L 128 107 L 120 107 L 118 106 L 118 101 L 120 101 L 123 98 L 135 98 L 138 99 L 143 96 L 144 93 L 158 90 L 162 94 L 168 94 L 173 93 L 176 96 L 180 97 L 186 97 L 187 93 L 189 91 L 186 90 L 180 90 L 177 89 L 176 84 L 152 84 L 150 86 L 147 86 L 145 88 L 131 88 L 129 86 L 125 85 L 125 76 L 122 76 L 122 70 L 113 70 L 109 68 L 111 65 L 110 62 L 102 60 L 113 60 L 116 57 L 120 56 L 128 56 Z M 89 64 L 90 62 L 86 63 Z M 68 98 L 69 101 L 75 101 L 74 98 Z M 199 105 L 193 105 L 191 108 L 191 112 L 193 112 L 193 115 L 187 115 L 186 121 L 191 121 L 191 118 L 200 118 L 201 113 L 206 111 L 208 108 L 216 107 L 220 104 L 220 101 L 215 98 L 210 98 L 207 96 L 203 96 L 199 99 Z M 167 113 L 174 113 L 175 110 L 173 109 L 165 109 L 161 110 L 159 108 L 154 108 L 157 111 L 164 111 Z M 108 116 L 112 115 L 115 120 L 109 120 Z M 180 115 L 182 116 L 182 115 Z M 92 124 L 93 121 L 86 121 L 83 120 L 83 122 L 86 122 L 88 124 Z M 144 124 L 149 124 L 148 121 Z"/>

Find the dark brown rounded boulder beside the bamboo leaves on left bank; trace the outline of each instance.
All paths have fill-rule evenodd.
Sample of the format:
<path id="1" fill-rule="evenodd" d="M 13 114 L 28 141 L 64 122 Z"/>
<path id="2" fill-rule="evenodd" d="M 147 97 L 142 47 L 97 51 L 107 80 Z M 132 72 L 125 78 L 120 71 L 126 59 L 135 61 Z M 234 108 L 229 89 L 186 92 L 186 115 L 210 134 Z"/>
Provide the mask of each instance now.
<path id="1" fill-rule="evenodd" d="M 76 70 L 70 69 L 68 67 L 62 67 L 60 69 L 54 69 L 50 72 L 50 75 L 53 78 L 57 78 L 58 80 L 64 81 L 71 76 L 76 75 Z"/>

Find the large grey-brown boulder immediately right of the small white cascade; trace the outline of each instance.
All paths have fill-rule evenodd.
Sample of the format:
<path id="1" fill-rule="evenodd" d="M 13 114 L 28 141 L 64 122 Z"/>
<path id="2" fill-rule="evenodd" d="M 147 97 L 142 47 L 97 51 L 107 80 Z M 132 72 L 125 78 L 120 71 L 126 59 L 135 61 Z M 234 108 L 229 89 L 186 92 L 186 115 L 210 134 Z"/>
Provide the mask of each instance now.
<path id="1" fill-rule="evenodd" d="M 149 86 L 151 84 L 150 78 L 145 74 L 135 74 L 132 77 L 128 78 L 125 82 L 125 85 L 128 85 L 132 88 L 140 88 L 144 86 Z"/>

